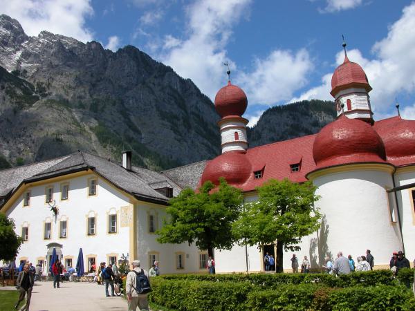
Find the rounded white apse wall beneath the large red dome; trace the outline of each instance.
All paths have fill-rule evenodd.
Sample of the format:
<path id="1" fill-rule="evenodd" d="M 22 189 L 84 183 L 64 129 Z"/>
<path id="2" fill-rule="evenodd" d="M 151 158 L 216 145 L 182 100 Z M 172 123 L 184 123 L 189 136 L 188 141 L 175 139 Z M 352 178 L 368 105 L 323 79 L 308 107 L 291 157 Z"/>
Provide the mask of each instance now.
<path id="1" fill-rule="evenodd" d="M 398 224 L 391 221 L 387 192 L 393 183 L 391 176 L 383 171 L 349 171 L 331 173 L 313 180 L 316 202 L 325 217 L 323 232 L 302 239 L 303 255 L 316 256 L 321 265 L 326 253 L 335 258 L 337 252 L 344 256 L 365 255 L 371 249 L 375 265 L 388 265 L 391 254 L 400 247 Z M 313 246 L 314 245 L 314 246 Z M 284 257 L 284 269 L 291 268 L 292 252 Z"/>

